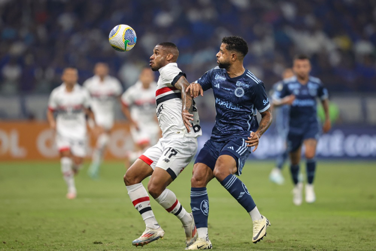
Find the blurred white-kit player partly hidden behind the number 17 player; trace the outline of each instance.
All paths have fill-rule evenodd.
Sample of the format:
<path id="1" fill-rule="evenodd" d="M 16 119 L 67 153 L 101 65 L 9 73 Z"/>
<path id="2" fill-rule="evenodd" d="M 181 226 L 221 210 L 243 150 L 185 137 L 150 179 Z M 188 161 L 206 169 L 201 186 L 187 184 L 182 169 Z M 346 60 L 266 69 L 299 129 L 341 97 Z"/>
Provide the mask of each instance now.
<path id="1" fill-rule="evenodd" d="M 130 132 L 136 145 L 135 151 L 128 155 L 130 163 L 133 163 L 146 149 L 155 145 L 161 138 L 161 131 L 155 115 L 156 88 L 154 72 L 150 68 L 144 68 L 139 80 L 121 96 L 122 110 L 130 121 Z"/>

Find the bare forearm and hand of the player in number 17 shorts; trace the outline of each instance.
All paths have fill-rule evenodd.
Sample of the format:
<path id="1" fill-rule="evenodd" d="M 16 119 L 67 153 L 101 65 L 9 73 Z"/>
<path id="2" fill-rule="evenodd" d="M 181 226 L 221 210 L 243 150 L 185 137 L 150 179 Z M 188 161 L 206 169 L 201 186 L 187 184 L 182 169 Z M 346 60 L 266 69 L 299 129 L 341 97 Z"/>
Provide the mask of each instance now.
<path id="1" fill-rule="evenodd" d="M 181 76 L 177 80 L 174 86 L 176 89 L 179 89 L 181 91 L 181 101 L 182 101 L 181 117 L 183 119 L 186 131 L 189 133 L 191 132 L 190 128 L 192 127 L 192 124 L 190 121 L 193 120 L 192 118 L 193 114 L 191 114 L 189 111 L 192 107 L 193 97 L 190 96 L 186 90 L 190 86 L 190 83 L 186 80 L 184 76 Z"/>

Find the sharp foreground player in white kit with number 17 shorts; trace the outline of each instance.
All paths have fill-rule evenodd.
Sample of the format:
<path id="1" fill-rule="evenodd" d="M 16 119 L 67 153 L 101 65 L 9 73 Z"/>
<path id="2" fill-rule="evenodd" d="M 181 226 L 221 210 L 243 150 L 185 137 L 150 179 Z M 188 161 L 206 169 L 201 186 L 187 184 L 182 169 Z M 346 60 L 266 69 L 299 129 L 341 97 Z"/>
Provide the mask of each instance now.
<path id="1" fill-rule="evenodd" d="M 147 185 L 149 194 L 167 212 L 181 221 L 186 246 L 197 239 L 192 213 L 186 212 L 175 194 L 166 188 L 191 162 L 197 152 L 197 137 L 202 135 L 193 98 L 185 93 L 190 83 L 176 64 L 178 55 L 176 45 L 164 42 L 154 47 L 150 57 L 151 69 L 160 73 L 155 96 L 162 138 L 155 146 L 146 150 L 124 175 L 128 195 L 146 224 L 146 230 L 133 240 L 132 244 L 135 246 L 143 246 L 164 235 L 151 210 L 147 191 L 141 183 L 150 175 Z M 181 117 L 186 113 L 192 114 L 193 121 L 187 127 Z"/>

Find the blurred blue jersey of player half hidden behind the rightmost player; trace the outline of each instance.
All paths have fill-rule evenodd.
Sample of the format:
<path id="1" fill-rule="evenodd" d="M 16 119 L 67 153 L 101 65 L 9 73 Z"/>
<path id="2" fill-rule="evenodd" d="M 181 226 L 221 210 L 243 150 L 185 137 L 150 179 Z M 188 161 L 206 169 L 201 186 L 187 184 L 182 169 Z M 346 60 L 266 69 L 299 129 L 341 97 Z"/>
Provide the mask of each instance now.
<path id="1" fill-rule="evenodd" d="M 281 91 L 283 88 L 283 81 L 279 81 L 273 85 L 272 93 L 269 93 L 270 96 L 274 96 L 274 93 L 277 91 Z M 276 129 L 278 134 L 280 135 L 287 135 L 288 127 L 289 127 L 289 111 L 290 106 L 288 104 L 284 104 L 278 107 L 274 107 L 273 110 L 273 120 L 276 124 Z"/>

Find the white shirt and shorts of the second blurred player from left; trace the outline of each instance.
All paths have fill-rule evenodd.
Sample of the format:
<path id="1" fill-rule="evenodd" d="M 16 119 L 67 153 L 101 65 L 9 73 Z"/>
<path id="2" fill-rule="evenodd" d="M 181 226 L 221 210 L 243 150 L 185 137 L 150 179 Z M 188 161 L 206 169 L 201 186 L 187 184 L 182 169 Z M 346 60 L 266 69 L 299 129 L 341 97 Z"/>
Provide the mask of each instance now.
<path id="1" fill-rule="evenodd" d="M 90 107 L 97 124 L 111 129 L 115 117 L 114 104 L 123 90 L 120 81 L 111 76 L 105 76 L 102 81 L 95 75 L 84 82 L 84 87 L 92 98 Z"/>

